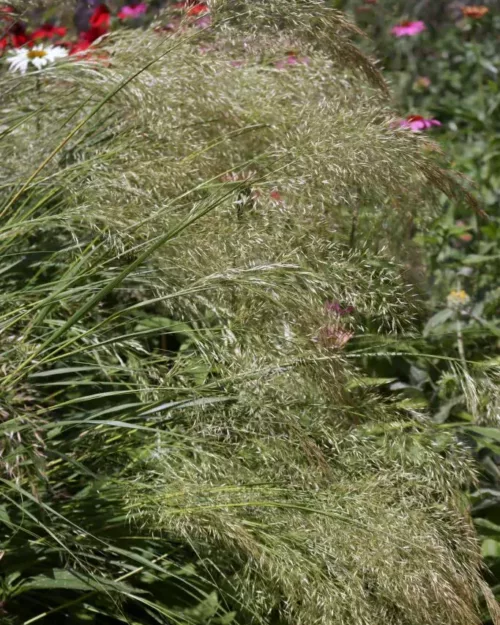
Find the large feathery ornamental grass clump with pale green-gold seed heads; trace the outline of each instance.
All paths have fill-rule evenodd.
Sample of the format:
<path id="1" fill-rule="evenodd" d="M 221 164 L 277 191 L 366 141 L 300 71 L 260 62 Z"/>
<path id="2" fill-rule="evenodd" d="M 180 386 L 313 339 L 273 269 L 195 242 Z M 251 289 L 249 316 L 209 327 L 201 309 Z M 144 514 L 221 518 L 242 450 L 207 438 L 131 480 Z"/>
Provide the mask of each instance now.
<path id="1" fill-rule="evenodd" d="M 453 180 L 337 13 L 227 11 L 1 76 L 5 618 L 469 625 L 468 457 L 356 349 Z"/>

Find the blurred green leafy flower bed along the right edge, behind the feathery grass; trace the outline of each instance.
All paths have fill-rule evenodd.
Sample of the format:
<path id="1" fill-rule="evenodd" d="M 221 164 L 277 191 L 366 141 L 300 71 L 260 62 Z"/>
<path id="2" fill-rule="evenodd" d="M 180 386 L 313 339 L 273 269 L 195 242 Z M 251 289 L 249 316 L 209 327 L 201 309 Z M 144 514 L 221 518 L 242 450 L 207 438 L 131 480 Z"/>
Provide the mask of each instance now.
<path id="1" fill-rule="evenodd" d="M 478 218 L 460 202 L 442 201 L 424 250 L 429 302 L 422 334 L 407 356 L 377 371 L 398 378 L 398 395 L 430 410 L 436 423 L 459 433 L 480 461 L 471 492 L 483 553 L 500 589 L 500 4 L 478 2 L 334 2 L 370 35 L 361 45 L 381 61 L 401 116 L 437 119 L 433 138 L 454 168 L 471 180 L 488 213 Z M 423 22 L 414 35 L 393 30 Z M 418 30 L 418 29 L 417 29 Z M 411 354 L 411 355 L 410 355 Z M 433 356 L 434 357 L 433 357 Z"/>

